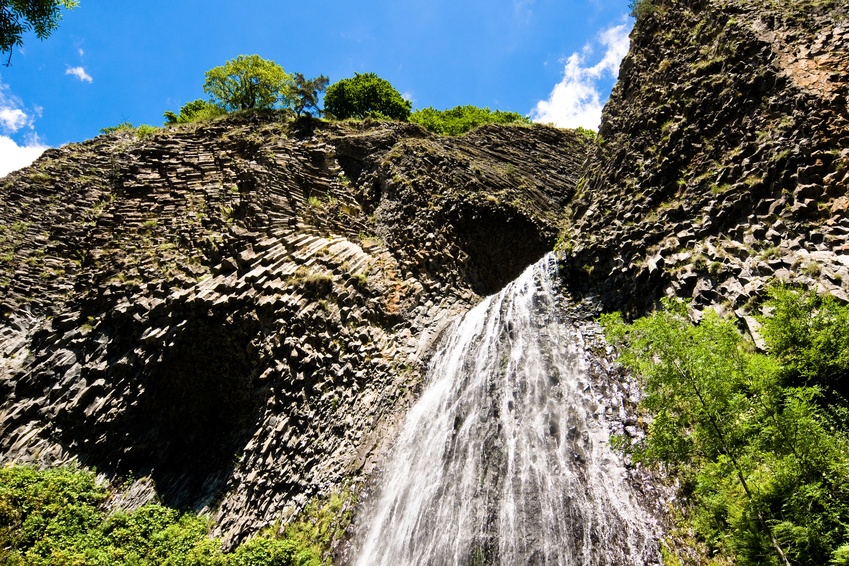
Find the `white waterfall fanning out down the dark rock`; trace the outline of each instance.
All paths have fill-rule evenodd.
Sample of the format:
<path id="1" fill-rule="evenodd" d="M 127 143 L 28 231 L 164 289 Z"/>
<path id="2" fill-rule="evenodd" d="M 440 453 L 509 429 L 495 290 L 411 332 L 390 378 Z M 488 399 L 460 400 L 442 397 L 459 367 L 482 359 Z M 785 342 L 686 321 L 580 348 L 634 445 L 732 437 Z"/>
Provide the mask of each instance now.
<path id="1" fill-rule="evenodd" d="M 358 566 L 656 562 L 546 256 L 455 324 L 362 518 Z"/>

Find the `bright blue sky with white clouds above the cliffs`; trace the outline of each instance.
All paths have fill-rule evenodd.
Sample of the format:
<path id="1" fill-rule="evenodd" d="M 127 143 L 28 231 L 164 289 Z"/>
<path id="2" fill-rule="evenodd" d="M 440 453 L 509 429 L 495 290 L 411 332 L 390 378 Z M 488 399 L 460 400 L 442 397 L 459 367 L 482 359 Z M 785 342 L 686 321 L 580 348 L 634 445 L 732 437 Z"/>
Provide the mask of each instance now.
<path id="1" fill-rule="evenodd" d="M 80 0 L 0 67 L 0 175 L 120 122 L 161 125 L 208 69 L 257 53 L 333 83 L 375 72 L 413 108 L 488 106 L 596 127 L 628 0 Z"/>

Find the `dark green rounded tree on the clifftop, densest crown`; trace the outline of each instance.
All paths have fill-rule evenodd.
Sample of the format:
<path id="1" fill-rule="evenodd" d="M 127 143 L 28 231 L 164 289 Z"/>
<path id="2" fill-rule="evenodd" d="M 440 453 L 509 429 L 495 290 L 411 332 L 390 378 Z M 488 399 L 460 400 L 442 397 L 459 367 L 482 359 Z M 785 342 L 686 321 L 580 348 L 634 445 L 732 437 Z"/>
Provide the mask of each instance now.
<path id="1" fill-rule="evenodd" d="M 324 110 L 336 118 L 369 116 L 406 121 L 412 103 L 374 73 L 357 73 L 330 85 L 324 95 Z"/>

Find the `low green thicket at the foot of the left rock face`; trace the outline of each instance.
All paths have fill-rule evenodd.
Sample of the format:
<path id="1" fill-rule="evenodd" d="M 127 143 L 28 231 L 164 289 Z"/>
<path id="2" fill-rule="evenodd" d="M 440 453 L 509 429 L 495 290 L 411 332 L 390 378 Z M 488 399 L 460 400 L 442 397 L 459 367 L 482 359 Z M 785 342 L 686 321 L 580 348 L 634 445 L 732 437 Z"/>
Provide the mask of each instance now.
<path id="1" fill-rule="evenodd" d="M 320 566 L 350 521 L 345 498 L 333 497 L 282 537 L 268 532 L 224 553 L 204 517 L 161 505 L 107 515 L 107 497 L 94 474 L 78 468 L 0 469 L 0 564 Z"/>

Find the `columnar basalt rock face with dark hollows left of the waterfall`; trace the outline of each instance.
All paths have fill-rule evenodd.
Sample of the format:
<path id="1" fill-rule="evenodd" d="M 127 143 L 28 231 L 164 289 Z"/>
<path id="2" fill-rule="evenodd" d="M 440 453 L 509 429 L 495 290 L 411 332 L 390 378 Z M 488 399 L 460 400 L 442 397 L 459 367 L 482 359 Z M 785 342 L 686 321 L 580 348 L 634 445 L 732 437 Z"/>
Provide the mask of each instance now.
<path id="1" fill-rule="evenodd" d="M 0 181 L 0 460 L 142 478 L 134 504 L 149 477 L 230 542 L 285 521 L 369 474 L 444 325 L 554 245 L 586 152 L 273 112 L 46 152 Z"/>

